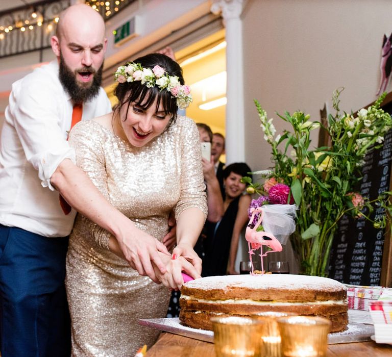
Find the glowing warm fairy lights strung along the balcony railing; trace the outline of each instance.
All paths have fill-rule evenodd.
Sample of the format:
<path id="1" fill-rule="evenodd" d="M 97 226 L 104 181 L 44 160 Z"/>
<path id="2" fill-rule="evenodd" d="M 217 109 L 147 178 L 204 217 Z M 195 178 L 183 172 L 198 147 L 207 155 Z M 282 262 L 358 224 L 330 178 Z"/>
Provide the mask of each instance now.
<path id="1" fill-rule="evenodd" d="M 126 5 L 133 3 L 135 0 L 105 0 L 105 1 L 91 1 L 85 0 L 85 3 L 104 17 L 104 19 L 108 19 L 113 16 L 116 12 L 124 8 Z M 0 17 L 0 41 L 6 39 L 7 35 L 12 33 L 13 31 L 20 31 L 22 33 L 28 33 L 36 28 L 40 28 L 42 26 L 45 27 L 46 33 L 51 33 L 59 21 L 59 17 L 57 15 L 51 18 L 44 18 L 44 15 L 31 7 L 31 11 L 24 11 L 25 15 L 21 19 L 18 15 L 17 19 L 13 21 L 11 24 L 2 24 L 2 18 Z M 3 16 L 4 17 L 4 16 Z"/>

